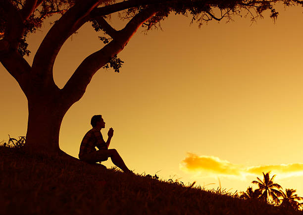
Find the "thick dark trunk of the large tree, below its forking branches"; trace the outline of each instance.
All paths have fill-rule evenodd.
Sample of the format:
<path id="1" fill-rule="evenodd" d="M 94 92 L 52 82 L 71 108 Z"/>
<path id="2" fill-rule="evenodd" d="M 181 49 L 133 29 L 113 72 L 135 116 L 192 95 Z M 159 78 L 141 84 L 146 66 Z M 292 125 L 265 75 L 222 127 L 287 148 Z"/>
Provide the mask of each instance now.
<path id="1" fill-rule="evenodd" d="M 25 149 L 31 153 L 58 154 L 59 132 L 68 110 L 64 101 L 45 96 L 28 99 L 28 124 Z"/>

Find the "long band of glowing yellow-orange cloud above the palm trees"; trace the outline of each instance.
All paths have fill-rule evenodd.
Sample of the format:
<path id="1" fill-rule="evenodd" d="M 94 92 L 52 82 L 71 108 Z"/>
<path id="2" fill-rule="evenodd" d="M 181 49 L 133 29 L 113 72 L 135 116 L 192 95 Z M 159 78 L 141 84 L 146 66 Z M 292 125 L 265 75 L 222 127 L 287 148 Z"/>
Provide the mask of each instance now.
<path id="1" fill-rule="evenodd" d="M 213 156 L 198 156 L 187 153 L 187 157 L 180 163 L 182 170 L 202 173 L 205 175 L 245 176 L 261 175 L 262 172 L 271 171 L 279 177 L 303 175 L 303 163 L 289 163 L 279 165 L 248 166 L 233 164 Z"/>

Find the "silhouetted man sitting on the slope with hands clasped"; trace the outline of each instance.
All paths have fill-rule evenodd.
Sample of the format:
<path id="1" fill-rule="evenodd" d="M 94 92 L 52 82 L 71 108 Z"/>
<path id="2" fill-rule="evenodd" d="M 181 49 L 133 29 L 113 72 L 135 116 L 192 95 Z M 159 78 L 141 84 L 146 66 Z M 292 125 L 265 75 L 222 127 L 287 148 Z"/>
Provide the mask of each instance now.
<path id="1" fill-rule="evenodd" d="M 105 142 L 103 140 L 101 129 L 105 128 L 105 122 L 102 119 L 102 116 L 94 115 L 91 119 L 91 125 L 93 128 L 85 134 L 81 142 L 79 159 L 89 163 L 96 163 L 106 161 L 107 158 L 110 158 L 111 161 L 124 172 L 131 172 L 125 165 L 117 150 L 108 149 L 110 140 L 113 136 L 112 128 L 109 128 L 107 132 L 107 141 Z M 96 147 L 99 150 L 96 150 Z"/>

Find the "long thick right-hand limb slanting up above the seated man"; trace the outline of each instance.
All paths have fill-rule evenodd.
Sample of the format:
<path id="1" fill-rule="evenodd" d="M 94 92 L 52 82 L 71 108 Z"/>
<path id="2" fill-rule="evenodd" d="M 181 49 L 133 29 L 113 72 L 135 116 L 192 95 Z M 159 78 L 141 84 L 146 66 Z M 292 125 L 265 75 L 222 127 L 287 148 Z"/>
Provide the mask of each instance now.
<path id="1" fill-rule="evenodd" d="M 142 23 L 150 19 L 155 12 L 156 9 L 151 7 L 135 15 L 126 26 L 119 31 L 119 35 L 114 40 L 82 61 L 62 89 L 64 98 L 70 101 L 70 104 L 78 101 L 83 96 L 93 75 L 115 54 L 123 50 Z"/>

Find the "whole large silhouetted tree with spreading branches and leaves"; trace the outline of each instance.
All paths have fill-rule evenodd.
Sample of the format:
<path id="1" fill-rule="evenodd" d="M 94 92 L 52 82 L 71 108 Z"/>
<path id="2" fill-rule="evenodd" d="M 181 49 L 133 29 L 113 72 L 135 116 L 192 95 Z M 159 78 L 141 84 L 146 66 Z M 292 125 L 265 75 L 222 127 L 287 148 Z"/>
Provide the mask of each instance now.
<path id="1" fill-rule="evenodd" d="M 282 0 L 289 5 L 288 0 Z M 200 24 L 248 14 L 254 20 L 265 10 L 276 18 L 276 0 L 0 0 L 0 61 L 17 80 L 28 101 L 25 148 L 33 152 L 58 153 L 59 130 L 66 111 L 85 93 L 93 75 L 102 67 L 119 71 L 117 54 L 140 26 L 159 27 L 171 12 L 189 15 Z M 302 3 L 298 1 L 298 3 Z M 121 12 L 128 23 L 116 30 L 107 22 Z M 40 44 L 30 65 L 24 55 L 26 37 L 42 27 L 53 14 L 61 15 Z M 91 22 L 105 45 L 87 56 L 62 89 L 53 80 L 53 64 L 64 42 L 84 23 Z"/>

